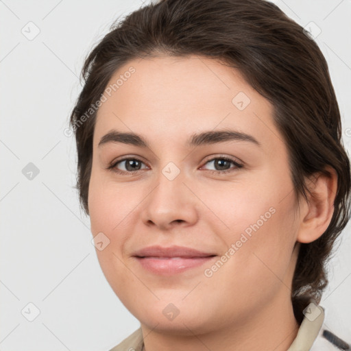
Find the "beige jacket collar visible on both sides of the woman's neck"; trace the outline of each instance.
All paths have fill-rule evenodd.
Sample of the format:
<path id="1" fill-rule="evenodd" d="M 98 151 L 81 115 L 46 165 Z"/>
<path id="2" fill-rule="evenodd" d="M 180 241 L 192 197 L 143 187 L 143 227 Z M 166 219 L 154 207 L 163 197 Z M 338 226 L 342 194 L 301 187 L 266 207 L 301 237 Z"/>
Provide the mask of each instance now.
<path id="1" fill-rule="evenodd" d="M 342 343 L 348 345 L 341 339 L 335 337 L 335 335 L 330 337 L 330 334 L 322 330 L 324 308 L 316 305 L 311 305 L 311 308 L 312 311 L 306 311 L 304 320 L 298 330 L 298 335 L 296 335 L 295 340 L 291 343 L 287 351 L 337 351 L 340 350 L 340 348 L 337 347 L 338 342 L 339 347 Z M 326 336 L 326 334 L 328 335 Z M 110 351 L 142 351 L 143 345 L 143 333 L 141 332 L 141 328 L 138 328 Z M 342 348 L 341 350 L 351 350 L 351 348 Z"/>

